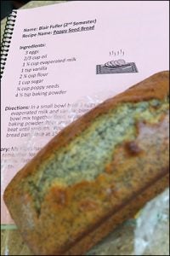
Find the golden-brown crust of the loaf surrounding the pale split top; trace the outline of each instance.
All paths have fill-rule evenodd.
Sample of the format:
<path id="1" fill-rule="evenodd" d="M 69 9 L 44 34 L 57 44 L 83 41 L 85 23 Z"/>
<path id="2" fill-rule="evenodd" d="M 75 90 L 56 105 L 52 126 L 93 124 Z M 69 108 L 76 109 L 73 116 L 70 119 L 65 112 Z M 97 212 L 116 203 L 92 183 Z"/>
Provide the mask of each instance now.
<path id="1" fill-rule="evenodd" d="M 105 172 L 93 181 L 52 187 L 42 202 L 39 217 L 31 195 L 19 189 L 26 177 L 37 172 L 39 162 L 70 143 L 108 109 L 122 102 L 163 100 L 169 93 L 168 78 L 168 72 L 157 73 L 100 104 L 61 131 L 14 177 L 4 193 L 4 201 L 34 253 L 79 255 L 86 252 L 111 231 L 112 224 L 115 226 L 132 217 L 145 201 L 167 186 L 169 119 L 163 114 L 157 125 L 137 124 L 136 139 L 118 146 Z"/>

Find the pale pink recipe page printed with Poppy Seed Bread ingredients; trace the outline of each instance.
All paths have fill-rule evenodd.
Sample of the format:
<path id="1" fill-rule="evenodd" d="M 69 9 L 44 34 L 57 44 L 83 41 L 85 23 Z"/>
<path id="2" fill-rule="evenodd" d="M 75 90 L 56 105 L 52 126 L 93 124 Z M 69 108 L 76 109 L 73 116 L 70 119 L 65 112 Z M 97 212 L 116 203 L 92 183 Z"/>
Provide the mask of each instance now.
<path id="1" fill-rule="evenodd" d="M 168 38 L 167 1 L 81 1 L 19 10 L 1 85 L 1 195 L 18 168 L 61 128 L 49 131 L 50 113 L 60 113 L 62 121 L 65 109 L 83 96 L 115 96 L 167 70 Z M 38 128 L 44 125 L 46 130 Z M 24 149 L 17 154 L 27 143 L 28 158 Z M 12 223 L 3 203 L 2 224 Z"/>

